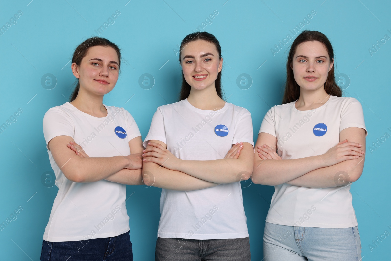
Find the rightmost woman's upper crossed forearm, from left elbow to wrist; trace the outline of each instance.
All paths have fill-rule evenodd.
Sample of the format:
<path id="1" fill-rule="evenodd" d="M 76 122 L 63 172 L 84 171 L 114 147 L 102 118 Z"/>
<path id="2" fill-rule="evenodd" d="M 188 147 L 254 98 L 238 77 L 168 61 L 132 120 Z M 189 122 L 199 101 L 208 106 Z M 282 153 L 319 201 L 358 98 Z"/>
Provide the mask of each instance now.
<path id="1" fill-rule="evenodd" d="M 319 156 L 291 160 L 255 160 L 251 178 L 255 184 L 275 186 L 287 183 L 325 165 L 326 163 Z"/>

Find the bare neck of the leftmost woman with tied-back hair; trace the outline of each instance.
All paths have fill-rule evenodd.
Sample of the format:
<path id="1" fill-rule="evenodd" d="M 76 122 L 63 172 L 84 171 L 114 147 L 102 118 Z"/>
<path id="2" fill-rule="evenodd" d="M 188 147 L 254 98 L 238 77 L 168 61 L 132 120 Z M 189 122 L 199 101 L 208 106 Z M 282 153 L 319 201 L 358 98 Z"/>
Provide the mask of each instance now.
<path id="1" fill-rule="evenodd" d="M 70 102 L 77 109 L 92 116 L 107 116 L 107 110 L 103 105 L 103 95 L 95 95 L 79 87 L 77 97 Z"/>

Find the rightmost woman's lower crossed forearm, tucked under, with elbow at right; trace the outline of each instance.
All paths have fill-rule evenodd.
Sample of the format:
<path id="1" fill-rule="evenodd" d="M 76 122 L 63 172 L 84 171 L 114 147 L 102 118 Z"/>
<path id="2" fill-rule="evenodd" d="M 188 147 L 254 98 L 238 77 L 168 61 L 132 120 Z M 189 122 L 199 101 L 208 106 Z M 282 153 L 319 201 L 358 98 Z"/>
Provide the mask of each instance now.
<path id="1" fill-rule="evenodd" d="M 357 160 L 346 160 L 330 167 L 315 169 L 286 183 L 315 188 L 346 186 L 361 176 L 364 158 L 360 160 L 358 163 Z"/>

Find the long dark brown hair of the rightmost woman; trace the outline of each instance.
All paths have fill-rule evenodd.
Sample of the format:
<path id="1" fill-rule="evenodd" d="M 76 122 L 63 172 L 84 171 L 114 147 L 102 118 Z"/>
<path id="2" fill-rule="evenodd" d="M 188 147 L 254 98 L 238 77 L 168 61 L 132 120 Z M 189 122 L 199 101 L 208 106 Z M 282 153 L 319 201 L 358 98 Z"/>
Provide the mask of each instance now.
<path id="1" fill-rule="evenodd" d="M 334 58 L 333 47 L 330 41 L 328 40 L 328 38 L 324 34 L 318 31 L 309 31 L 309 30 L 304 30 L 303 32 L 301 32 L 298 35 L 298 37 L 293 41 L 291 45 L 291 49 L 289 50 L 288 60 L 287 60 L 287 81 L 285 83 L 285 92 L 284 92 L 282 104 L 291 103 L 292 101 L 296 101 L 297 99 L 299 99 L 300 86 L 296 83 L 294 79 L 291 63 L 293 61 L 293 56 L 296 52 L 298 45 L 306 41 L 318 41 L 323 43 L 323 45 L 325 46 L 328 52 L 328 56 L 330 57 L 330 62 Z M 342 90 L 337 85 L 337 83 L 335 83 L 334 67 L 335 67 L 335 62 L 330 72 L 328 72 L 327 79 L 324 85 L 325 91 L 328 94 L 341 97 Z"/>

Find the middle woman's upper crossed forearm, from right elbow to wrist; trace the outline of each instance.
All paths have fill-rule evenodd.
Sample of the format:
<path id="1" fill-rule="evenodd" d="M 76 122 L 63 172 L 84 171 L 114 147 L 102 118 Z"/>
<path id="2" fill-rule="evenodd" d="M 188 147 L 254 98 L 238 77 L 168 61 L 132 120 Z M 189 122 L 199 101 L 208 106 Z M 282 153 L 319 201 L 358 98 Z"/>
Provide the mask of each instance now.
<path id="1" fill-rule="evenodd" d="M 178 170 L 195 178 L 213 183 L 232 183 L 247 180 L 253 171 L 252 162 L 239 158 L 218 160 L 181 160 Z"/>

